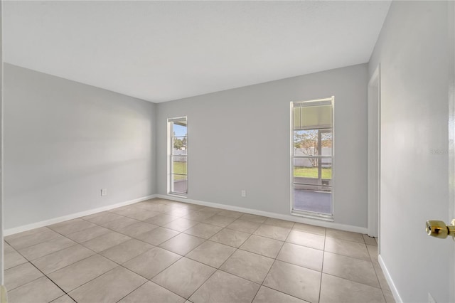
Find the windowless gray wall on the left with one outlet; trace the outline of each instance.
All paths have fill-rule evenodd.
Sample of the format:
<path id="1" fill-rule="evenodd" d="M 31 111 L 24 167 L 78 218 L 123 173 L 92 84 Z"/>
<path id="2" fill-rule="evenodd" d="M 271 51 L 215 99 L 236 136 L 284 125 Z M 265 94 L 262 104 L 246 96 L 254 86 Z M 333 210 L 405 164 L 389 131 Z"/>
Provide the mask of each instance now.
<path id="1" fill-rule="evenodd" d="M 154 194 L 155 107 L 5 64 L 5 228 Z"/>

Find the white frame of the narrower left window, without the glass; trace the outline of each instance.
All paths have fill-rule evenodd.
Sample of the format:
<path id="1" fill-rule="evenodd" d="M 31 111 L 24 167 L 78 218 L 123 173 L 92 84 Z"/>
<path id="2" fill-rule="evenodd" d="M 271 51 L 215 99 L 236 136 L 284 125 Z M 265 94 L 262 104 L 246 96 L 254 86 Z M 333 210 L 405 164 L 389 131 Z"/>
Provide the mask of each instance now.
<path id="1" fill-rule="evenodd" d="M 186 122 L 186 155 L 178 155 L 182 157 L 186 157 L 186 175 L 182 174 L 182 176 L 186 176 L 186 192 L 180 192 L 180 191 L 173 191 L 173 122 L 181 122 L 185 121 Z M 167 140 L 168 140 L 168 155 L 167 155 L 167 179 L 168 179 L 168 195 L 171 196 L 178 196 L 178 197 L 183 197 L 186 198 L 188 195 L 188 117 L 173 117 L 173 118 L 168 118 L 167 119 L 167 129 L 168 129 L 168 135 L 167 135 Z M 179 137 L 179 136 L 177 136 Z M 180 175 L 180 174 L 179 174 Z"/>

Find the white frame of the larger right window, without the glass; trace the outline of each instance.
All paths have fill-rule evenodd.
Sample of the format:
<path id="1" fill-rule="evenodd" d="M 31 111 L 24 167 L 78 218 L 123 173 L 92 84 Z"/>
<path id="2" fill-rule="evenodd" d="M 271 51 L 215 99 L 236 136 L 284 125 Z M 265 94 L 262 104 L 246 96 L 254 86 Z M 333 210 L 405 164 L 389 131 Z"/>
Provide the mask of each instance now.
<path id="1" fill-rule="evenodd" d="M 294 104 L 301 104 L 301 103 L 310 103 L 310 102 L 331 102 L 332 107 L 332 179 L 331 179 L 331 214 L 325 213 L 315 213 L 312 211 L 299 211 L 294 209 Z M 291 102 L 291 110 L 290 110 L 290 176 L 291 176 L 291 208 L 290 212 L 293 216 L 300 216 L 312 219 L 319 219 L 319 220 L 326 220 L 326 221 L 333 221 L 335 216 L 335 179 L 333 172 L 335 171 L 335 97 L 327 97 L 323 99 L 316 99 L 316 100 L 306 100 L 306 101 L 292 101 Z"/>

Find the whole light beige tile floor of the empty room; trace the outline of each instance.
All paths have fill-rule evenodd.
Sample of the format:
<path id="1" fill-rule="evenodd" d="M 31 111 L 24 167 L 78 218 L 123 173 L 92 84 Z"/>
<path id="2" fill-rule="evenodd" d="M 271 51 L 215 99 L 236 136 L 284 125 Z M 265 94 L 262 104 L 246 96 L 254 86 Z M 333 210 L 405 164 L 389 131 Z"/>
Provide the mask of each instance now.
<path id="1" fill-rule="evenodd" d="M 5 238 L 9 302 L 394 302 L 374 238 L 152 199 Z"/>

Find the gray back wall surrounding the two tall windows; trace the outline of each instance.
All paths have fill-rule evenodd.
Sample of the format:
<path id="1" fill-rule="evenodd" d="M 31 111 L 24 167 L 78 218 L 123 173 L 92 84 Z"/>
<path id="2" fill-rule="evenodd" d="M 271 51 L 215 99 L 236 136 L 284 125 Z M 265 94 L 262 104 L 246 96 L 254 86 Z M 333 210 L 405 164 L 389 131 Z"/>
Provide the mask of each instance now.
<path id="1" fill-rule="evenodd" d="M 159 103 L 158 193 L 167 191 L 166 118 L 188 116 L 188 198 L 289 215 L 289 102 L 334 95 L 335 222 L 365 228 L 367 83 L 362 64 Z"/>

